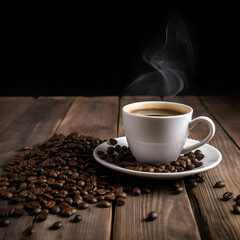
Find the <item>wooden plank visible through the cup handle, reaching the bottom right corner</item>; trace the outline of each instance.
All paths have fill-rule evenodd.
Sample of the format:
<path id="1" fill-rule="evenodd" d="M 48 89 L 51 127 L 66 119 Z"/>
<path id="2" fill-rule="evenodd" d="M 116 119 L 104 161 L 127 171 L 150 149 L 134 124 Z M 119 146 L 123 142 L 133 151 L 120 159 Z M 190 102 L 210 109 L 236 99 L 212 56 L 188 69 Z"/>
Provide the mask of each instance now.
<path id="1" fill-rule="evenodd" d="M 200 115 L 211 117 L 197 97 L 174 97 L 170 100 L 192 106 L 195 117 Z M 193 197 L 191 199 L 193 204 L 198 207 L 196 212 L 199 211 L 200 225 L 208 228 L 201 229 L 205 231 L 204 239 L 239 239 L 240 218 L 231 213 L 234 201 L 224 202 L 220 198 L 227 191 L 233 192 L 234 196 L 239 194 L 240 151 L 216 121 L 215 124 L 216 133 L 210 144 L 221 151 L 222 162 L 216 168 L 206 172 L 206 181 L 203 184 L 189 191 Z M 191 130 L 190 138 L 202 139 L 206 134 L 206 126 L 198 124 Z M 214 184 L 220 180 L 226 183 L 226 187 L 213 188 Z"/>

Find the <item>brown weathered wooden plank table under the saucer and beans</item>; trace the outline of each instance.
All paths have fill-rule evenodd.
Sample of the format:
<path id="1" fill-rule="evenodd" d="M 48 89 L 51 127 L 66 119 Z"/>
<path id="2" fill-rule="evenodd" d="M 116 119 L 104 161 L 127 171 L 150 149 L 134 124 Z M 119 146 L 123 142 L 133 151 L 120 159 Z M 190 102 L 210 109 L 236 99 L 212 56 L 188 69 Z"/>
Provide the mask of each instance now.
<path id="1" fill-rule="evenodd" d="M 123 136 L 121 107 L 142 100 L 160 100 L 150 96 L 108 97 L 1 97 L 0 98 L 0 164 L 18 156 L 23 145 L 33 146 L 55 132 L 107 139 Z M 166 99 L 188 104 L 194 117 L 205 115 L 216 124 L 210 144 L 222 152 L 220 165 L 206 172 L 206 181 L 196 188 L 185 186 L 183 193 L 171 194 L 166 181 L 153 183 L 153 192 L 139 197 L 129 196 L 123 207 L 100 209 L 95 205 L 79 210 L 82 222 L 69 223 L 50 231 L 48 227 L 59 217 L 50 215 L 37 223 L 31 239 L 240 239 L 240 215 L 231 213 L 234 201 L 223 202 L 226 191 L 240 194 L 240 98 L 234 96 L 180 96 Z M 201 139 L 205 126 L 198 124 L 190 138 Z M 213 185 L 224 180 L 226 187 Z M 2 203 L 2 202 L 1 202 Z M 157 220 L 146 222 L 147 213 L 155 210 Z M 25 239 L 22 232 L 30 225 L 31 216 L 13 219 L 0 228 L 0 239 Z"/>

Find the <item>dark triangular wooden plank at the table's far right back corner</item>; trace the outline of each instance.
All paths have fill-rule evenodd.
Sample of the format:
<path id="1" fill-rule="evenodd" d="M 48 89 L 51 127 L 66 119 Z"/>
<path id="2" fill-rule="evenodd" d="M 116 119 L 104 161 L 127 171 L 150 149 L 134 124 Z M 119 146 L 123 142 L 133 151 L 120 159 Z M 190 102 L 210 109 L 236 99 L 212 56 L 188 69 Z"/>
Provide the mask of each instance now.
<path id="1" fill-rule="evenodd" d="M 201 96 L 200 99 L 240 147 L 240 97 Z"/>

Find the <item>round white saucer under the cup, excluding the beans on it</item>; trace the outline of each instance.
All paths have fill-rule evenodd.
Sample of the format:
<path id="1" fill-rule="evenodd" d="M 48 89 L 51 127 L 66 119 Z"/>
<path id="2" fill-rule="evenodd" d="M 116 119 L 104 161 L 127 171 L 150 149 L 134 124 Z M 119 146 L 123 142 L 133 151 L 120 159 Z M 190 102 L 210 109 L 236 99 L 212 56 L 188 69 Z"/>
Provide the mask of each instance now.
<path id="1" fill-rule="evenodd" d="M 118 141 L 118 144 L 120 146 L 128 146 L 126 137 L 119 137 L 115 138 Z M 192 145 L 194 143 L 197 143 L 198 141 L 193 140 L 193 139 L 187 139 L 186 141 L 186 146 Z M 177 173 L 150 173 L 150 172 L 141 172 L 141 171 L 134 171 L 126 168 L 122 168 L 120 166 L 117 166 L 116 164 L 113 163 L 108 163 L 105 160 L 102 160 L 99 158 L 97 152 L 98 151 L 107 151 L 107 148 L 110 145 L 107 142 L 104 142 L 97 146 L 94 151 L 93 151 L 93 156 L 96 159 L 97 162 L 102 164 L 105 167 L 111 168 L 115 171 L 134 175 L 134 176 L 139 176 L 139 177 L 144 177 L 144 178 L 151 178 L 151 179 L 177 179 L 177 178 L 183 178 L 187 177 L 196 173 L 201 173 L 205 172 L 209 169 L 212 169 L 216 167 L 222 160 L 222 154 L 213 146 L 209 144 L 205 144 L 204 146 L 200 147 L 199 149 L 203 152 L 205 157 L 203 158 L 202 162 L 203 165 L 201 167 L 195 168 L 193 170 L 187 170 L 184 172 L 177 172 Z"/>

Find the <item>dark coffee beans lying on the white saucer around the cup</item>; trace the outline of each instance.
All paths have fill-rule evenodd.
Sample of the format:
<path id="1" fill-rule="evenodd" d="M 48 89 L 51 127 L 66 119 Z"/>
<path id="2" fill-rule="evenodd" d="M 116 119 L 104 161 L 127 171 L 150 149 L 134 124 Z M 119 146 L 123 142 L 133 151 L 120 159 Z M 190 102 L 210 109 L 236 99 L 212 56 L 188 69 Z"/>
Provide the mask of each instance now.
<path id="1" fill-rule="evenodd" d="M 170 163 L 146 164 L 136 161 L 131 150 L 126 146 L 117 145 L 116 140 L 109 141 L 109 143 L 115 146 L 109 146 L 106 152 L 98 151 L 97 154 L 99 157 L 109 163 L 134 171 L 175 173 L 192 170 L 203 165 L 201 160 L 204 158 L 204 154 L 199 149 L 195 152 L 189 152 L 184 155 L 181 154 L 176 161 Z"/>

